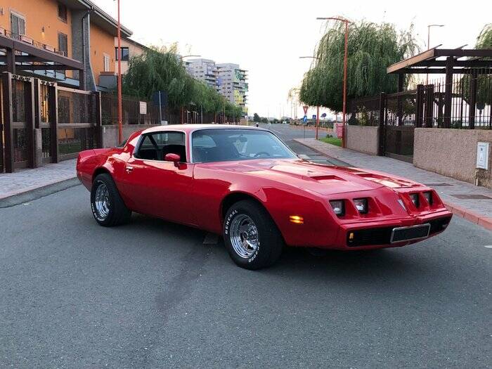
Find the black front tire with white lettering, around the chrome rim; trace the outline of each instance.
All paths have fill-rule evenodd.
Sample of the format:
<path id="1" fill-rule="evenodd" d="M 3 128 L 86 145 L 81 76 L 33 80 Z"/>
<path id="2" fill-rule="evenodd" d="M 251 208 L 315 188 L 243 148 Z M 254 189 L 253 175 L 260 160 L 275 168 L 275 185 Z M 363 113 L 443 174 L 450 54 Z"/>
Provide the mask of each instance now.
<path id="1" fill-rule="evenodd" d="M 233 246 L 233 233 L 237 236 L 238 232 L 235 232 L 234 229 L 237 229 L 236 225 L 238 221 L 240 219 L 247 219 L 248 217 L 252 220 L 253 226 L 257 230 L 257 232 L 253 233 L 259 242 L 257 243 L 256 250 L 250 250 L 252 252 L 251 255 L 247 255 L 247 253 L 246 255 L 241 255 Z M 250 221 L 247 222 L 251 224 Z M 271 266 L 280 258 L 280 254 L 282 254 L 284 241 L 280 231 L 278 231 L 276 224 L 264 207 L 252 200 L 236 202 L 228 209 L 224 218 L 223 233 L 224 243 L 231 259 L 242 268 L 255 270 Z M 238 238 L 236 237 L 235 239 L 237 240 Z M 240 239 L 243 239 L 242 236 Z M 237 247 L 237 242 L 235 245 Z"/>

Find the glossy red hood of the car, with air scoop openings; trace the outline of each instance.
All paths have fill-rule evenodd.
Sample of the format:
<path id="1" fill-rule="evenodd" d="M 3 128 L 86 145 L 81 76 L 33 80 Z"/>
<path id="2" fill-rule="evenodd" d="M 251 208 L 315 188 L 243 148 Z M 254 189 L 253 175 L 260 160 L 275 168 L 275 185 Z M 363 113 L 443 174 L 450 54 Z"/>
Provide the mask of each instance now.
<path id="1" fill-rule="evenodd" d="M 306 160 L 243 160 L 209 163 L 226 171 L 278 181 L 278 187 L 295 186 L 311 192 L 330 195 L 375 188 L 409 188 L 422 186 L 398 176 L 352 167 L 335 167 Z"/>

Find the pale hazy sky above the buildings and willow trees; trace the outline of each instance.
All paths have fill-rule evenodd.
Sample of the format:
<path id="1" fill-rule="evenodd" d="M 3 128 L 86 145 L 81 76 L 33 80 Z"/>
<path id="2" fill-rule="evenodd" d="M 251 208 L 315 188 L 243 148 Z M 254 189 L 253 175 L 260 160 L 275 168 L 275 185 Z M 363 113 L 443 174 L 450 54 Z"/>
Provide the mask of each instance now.
<path id="1" fill-rule="evenodd" d="M 293 116 L 288 92 L 299 86 L 323 35 L 316 17 L 342 15 L 351 20 L 391 22 L 396 29 L 415 27 L 417 41 L 431 46 L 472 48 L 484 25 L 491 22 L 492 1 L 268 1 L 268 0 L 120 0 L 122 24 L 132 39 L 145 45 L 179 44 L 182 54 L 197 54 L 217 63 L 237 63 L 248 70 L 248 112 L 261 116 Z M 116 17 L 115 0 L 93 0 Z M 324 112 L 325 110 L 322 110 Z M 310 108 L 308 115 L 316 114 Z M 302 117 L 297 107 L 297 117 Z M 330 112 L 328 112 L 330 116 Z"/>

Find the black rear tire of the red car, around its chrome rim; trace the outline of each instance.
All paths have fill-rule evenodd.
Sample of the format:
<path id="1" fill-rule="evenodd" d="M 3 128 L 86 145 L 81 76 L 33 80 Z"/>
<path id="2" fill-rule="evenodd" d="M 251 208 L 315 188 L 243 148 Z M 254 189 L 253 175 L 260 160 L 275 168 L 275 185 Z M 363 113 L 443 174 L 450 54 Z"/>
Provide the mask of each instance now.
<path id="1" fill-rule="evenodd" d="M 103 191 L 103 186 L 107 189 L 108 212 L 100 211 L 96 205 L 96 193 L 99 187 Z M 115 181 L 112 180 L 109 174 L 99 174 L 94 179 L 91 188 L 91 210 L 94 219 L 104 227 L 119 226 L 120 224 L 128 223 L 131 217 L 131 210 L 124 205 L 123 199 L 116 188 Z"/>

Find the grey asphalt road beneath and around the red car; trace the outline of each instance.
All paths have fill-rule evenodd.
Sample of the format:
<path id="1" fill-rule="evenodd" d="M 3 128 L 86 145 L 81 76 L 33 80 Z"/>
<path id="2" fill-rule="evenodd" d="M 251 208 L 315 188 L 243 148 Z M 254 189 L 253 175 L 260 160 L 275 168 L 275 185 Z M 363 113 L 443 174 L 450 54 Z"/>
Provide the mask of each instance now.
<path id="1" fill-rule="evenodd" d="M 0 367 L 492 363 L 492 233 L 458 217 L 408 247 L 289 249 L 262 271 L 192 228 L 98 226 L 82 186 L 0 219 Z"/>

